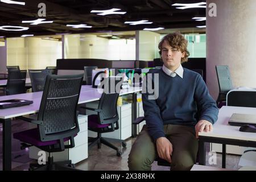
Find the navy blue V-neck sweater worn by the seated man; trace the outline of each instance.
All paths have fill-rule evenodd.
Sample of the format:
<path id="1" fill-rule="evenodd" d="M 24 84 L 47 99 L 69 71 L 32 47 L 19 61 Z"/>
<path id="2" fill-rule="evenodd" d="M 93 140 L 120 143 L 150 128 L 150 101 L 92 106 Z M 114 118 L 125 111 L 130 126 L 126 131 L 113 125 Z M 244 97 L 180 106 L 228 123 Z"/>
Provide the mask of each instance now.
<path id="1" fill-rule="evenodd" d="M 148 131 L 154 139 L 165 137 L 163 125 L 166 124 L 194 127 L 201 119 L 211 123 L 217 120 L 218 108 L 203 78 L 199 73 L 183 69 L 183 78 L 178 75 L 168 76 L 162 69 L 148 72 L 152 73 L 153 84 L 153 75 L 159 74 L 159 97 L 150 100 L 148 96 L 152 94 L 142 94 L 144 117 Z"/>

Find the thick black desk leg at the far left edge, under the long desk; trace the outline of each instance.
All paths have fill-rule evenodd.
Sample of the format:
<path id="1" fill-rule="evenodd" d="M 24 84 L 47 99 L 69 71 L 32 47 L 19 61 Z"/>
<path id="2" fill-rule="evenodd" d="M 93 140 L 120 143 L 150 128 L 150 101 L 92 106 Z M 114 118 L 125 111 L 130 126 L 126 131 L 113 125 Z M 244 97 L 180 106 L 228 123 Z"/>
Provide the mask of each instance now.
<path id="1" fill-rule="evenodd" d="M 11 170 L 11 119 L 1 119 L 3 123 L 3 171 Z"/>

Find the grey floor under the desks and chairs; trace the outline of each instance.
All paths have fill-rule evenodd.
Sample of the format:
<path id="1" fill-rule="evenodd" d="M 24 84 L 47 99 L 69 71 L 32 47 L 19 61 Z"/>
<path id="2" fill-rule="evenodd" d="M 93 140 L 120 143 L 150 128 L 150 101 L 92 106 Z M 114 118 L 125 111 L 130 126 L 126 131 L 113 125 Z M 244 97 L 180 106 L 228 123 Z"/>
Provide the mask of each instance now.
<path id="1" fill-rule="evenodd" d="M 28 123 L 20 120 L 12 121 L 12 133 L 28 129 Z M 127 159 L 135 138 L 127 139 L 127 147 L 122 148 L 123 154 L 121 157 L 116 156 L 116 152 L 109 147 L 102 144 L 101 149 L 94 146 L 89 150 L 89 158 L 76 164 L 76 168 L 82 170 L 99 170 L 99 171 L 120 171 L 128 170 Z M 114 143 L 121 148 L 121 144 Z M 209 151 L 209 147 L 208 150 Z M 2 125 L 0 124 L 0 170 L 2 170 Z M 209 155 L 207 152 L 207 166 Z M 240 156 L 227 155 L 226 168 L 239 169 L 238 166 Z M 28 158 L 28 150 L 20 150 L 19 140 L 12 140 L 12 167 L 13 170 L 27 170 L 30 163 L 35 163 L 35 160 Z M 213 167 L 221 167 L 221 154 L 217 154 L 217 164 Z M 156 163 L 152 164 L 152 170 L 168 171 L 169 167 L 158 166 Z"/>

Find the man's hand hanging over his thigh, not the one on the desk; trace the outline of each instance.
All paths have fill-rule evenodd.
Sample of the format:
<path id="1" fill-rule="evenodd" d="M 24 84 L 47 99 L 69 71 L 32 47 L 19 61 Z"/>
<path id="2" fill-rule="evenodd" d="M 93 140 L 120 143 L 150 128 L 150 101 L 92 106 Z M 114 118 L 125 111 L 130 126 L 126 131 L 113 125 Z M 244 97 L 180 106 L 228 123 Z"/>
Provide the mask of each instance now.
<path id="1" fill-rule="evenodd" d="M 158 150 L 158 156 L 161 159 L 172 162 L 172 144 L 166 137 L 160 137 L 156 139 L 156 149 Z"/>

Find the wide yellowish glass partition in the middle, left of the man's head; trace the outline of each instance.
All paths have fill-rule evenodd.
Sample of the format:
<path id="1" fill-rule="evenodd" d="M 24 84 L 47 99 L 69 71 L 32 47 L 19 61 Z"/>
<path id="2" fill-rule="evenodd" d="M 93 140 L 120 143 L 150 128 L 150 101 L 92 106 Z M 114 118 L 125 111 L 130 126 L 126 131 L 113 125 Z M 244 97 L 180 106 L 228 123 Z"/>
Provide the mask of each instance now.
<path id="1" fill-rule="evenodd" d="M 135 60 L 135 32 L 65 35 L 65 59 Z"/>

